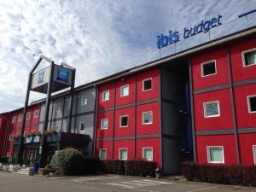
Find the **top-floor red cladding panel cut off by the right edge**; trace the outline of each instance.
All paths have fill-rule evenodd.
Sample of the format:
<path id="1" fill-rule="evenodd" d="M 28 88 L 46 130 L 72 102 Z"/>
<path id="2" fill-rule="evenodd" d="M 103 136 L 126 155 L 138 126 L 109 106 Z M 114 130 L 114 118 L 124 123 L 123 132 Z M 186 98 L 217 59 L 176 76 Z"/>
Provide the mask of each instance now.
<path id="1" fill-rule="evenodd" d="M 248 49 L 256 49 L 256 38 L 251 38 L 230 46 L 233 81 L 241 81 L 256 78 L 256 65 L 243 67 L 242 52 Z"/>

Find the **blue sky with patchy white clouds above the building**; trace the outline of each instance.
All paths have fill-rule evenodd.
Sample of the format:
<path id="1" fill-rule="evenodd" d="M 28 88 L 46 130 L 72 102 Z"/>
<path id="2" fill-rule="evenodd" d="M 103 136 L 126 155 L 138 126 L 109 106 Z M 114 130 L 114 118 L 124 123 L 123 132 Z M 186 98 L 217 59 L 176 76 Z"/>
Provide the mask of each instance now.
<path id="1" fill-rule="evenodd" d="M 0 0 L 0 113 L 24 106 L 40 55 L 75 67 L 79 86 L 159 59 L 160 33 L 251 9 L 256 0 Z"/>

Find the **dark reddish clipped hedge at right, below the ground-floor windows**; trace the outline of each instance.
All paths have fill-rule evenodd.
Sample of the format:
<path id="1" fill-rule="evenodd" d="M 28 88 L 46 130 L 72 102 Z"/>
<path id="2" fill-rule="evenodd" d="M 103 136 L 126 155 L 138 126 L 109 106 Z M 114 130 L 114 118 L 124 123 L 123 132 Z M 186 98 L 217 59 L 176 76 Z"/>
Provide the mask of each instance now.
<path id="1" fill-rule="evenodd" d="M 189 181 L 256 186 L 256 166 L 198 165 L 183 163 Z"/>

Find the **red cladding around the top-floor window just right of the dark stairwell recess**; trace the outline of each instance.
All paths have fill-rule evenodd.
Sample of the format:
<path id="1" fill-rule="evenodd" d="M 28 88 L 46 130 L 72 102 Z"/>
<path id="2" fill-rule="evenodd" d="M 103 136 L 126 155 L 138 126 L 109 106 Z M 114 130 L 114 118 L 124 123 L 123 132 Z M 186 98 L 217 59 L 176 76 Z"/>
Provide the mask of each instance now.
<path id="1" fill-rule="evenodd" d="M 216 74 L 202 77 L 201 64 L 207 61 L 216 61 Z M 191 59 L 193 89 L 200 90 L 220 84 L 229 83 L 227 55 L 225 49 L 216 49 L 205 54 L 196 55 Z"/>

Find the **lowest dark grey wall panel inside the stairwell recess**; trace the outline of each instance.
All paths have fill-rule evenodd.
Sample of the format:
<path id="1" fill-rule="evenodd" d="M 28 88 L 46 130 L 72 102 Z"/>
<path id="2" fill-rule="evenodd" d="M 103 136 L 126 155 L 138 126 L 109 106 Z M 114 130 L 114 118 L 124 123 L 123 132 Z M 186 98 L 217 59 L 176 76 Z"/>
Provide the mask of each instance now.
<path id="1" fill-rule="evenodd" d="M 164 148 L 164 172 L 177 174 L 181 172 L 181 155 L 177 148 L 177 140 L 165 138 Z"/>

